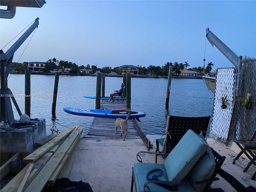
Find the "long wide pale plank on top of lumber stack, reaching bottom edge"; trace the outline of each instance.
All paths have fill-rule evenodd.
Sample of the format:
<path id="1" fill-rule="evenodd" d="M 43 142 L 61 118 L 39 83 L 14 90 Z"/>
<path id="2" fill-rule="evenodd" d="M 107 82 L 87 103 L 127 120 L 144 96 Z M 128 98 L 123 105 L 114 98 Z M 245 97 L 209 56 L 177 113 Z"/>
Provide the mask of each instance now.
<path id="1" fill-rule="evenodd" d="M 73 130 L 72 133 L 66 138 L 65 142 L 60 146 L 60 148 L 53 154 L 52 158 L 46 163 L 42 170 L 37 174 L 37 176 L 32 180 L 24 192 L 40 192 L 44 188 L 46 182 L 49 180 L 50 176 L 56 169 L 62 158 L 65 156 L 66 152 L 75 141 L 78 131 Z M 57 137 L 56 137 L 57 138 Z M 54 138 L 55 139 L 55 138 Z M 42 146 L 43 147 L 43 146 Z"/>

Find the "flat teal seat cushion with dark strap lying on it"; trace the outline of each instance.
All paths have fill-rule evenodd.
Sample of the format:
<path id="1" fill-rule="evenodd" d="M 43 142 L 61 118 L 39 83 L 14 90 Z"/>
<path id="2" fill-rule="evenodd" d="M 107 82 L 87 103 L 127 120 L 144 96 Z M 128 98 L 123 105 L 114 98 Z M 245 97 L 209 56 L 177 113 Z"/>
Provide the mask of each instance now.
<path id="1" fill-rule="evenodd" d="M 155 163 L 134 163 L 134 183 L 137 192 L 144 192 L 144 183 L 147 182 L 147 174 L 153 169 L 161 169 L 163 171 L 162 176 L 159 177 L 160 180 L 168 181 L 168 177 L 164 168 L 164 164 Z M 156 174 L 158 174 L 156 172 Z M 154 173 L 152 174 L 154 175 Z M 157 184 L 148 184 L 151 192 L 170 192 L 166 188 L 158 186 Z M 178 186 L 178 191 L 176 192 L 196 192 L 195 188 L 191 185 Z"/>

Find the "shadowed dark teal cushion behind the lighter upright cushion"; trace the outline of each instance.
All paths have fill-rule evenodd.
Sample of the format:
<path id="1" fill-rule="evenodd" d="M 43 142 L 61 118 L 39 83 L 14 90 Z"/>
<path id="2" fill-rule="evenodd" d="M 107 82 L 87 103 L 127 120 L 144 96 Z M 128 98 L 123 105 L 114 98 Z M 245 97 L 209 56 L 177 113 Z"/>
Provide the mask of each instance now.
<path id="1" fill-rule="evenodd" d="M 204 140 L 202 132 L 199 136 Z M 212 153 L 212 150 L 208 148 L 203 156 L 198 160 L 196 165 L 190 170 L 187 178 L 189 181 L 193 182 L 210 179 L 215 171 L 215 168 L 216 162 L 214 159 L 214 155 Z M 198 184 L 194 185 L 194 188 L 196 188 L 198 192 L 202 192 L 206 185 L 207 184 Z"/>

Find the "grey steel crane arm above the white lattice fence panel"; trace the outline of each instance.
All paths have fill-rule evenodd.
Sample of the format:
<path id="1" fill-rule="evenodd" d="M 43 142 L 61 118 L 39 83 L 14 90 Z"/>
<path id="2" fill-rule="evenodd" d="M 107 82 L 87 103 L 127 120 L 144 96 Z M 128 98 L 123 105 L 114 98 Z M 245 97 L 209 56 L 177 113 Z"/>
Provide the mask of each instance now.
<path id="1" fill-rule="evenodd" d="M 226 46 L 216 35 L 214 35 L 209 28 L 206 28 L 206 38 L 212 46 L 216 46 L 220 52 L 228 59 L 230 62 L 238 68 L 239 57 Z"/>

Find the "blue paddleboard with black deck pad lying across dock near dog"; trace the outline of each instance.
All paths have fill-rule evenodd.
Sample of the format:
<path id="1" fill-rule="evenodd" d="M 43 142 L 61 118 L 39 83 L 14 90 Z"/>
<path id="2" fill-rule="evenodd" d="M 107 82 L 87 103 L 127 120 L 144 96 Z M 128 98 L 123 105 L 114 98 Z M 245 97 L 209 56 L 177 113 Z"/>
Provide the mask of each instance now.
<path id="1" fill-rule="evenodd" d="M 128 111 L 122 110 L 102 110 L 102 109 L 84 109 L 84 108 L 73 108 L 64 107 L 63 110 L 73 115 L 81 116 L 93 116 L 103 118 L 123 118 L 127 117 Z M 146 113 L 131 111 L 129 118 L 139 118 L 146 116 Z"/>

